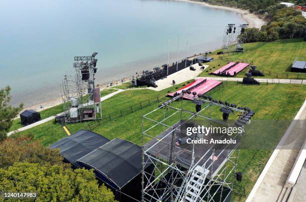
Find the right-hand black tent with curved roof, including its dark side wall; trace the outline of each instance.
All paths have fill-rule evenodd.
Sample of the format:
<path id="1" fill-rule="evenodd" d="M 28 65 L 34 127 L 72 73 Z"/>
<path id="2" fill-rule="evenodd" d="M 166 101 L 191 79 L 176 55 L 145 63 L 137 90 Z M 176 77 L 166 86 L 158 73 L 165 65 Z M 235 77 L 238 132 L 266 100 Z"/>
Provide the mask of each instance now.
<path id="1" fill-rule="evenodd" d="M 93 168 L 96 177 L 114 191 L 115 199 L 133 201 L 141 198 L 141 154 L 137 144 L 115 138 L 77 161 L 87 169 Z"/>

